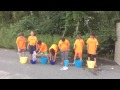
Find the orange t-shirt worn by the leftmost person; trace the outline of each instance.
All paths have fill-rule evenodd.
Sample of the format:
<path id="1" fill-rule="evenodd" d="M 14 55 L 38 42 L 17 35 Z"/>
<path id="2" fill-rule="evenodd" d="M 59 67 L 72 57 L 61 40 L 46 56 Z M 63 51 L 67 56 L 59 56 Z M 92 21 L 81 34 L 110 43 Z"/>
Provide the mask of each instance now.
<path id="1" fill-rule="evenodd" d="M 18 37 L 16 39 L 16 44 L 20 49 L 25 49 L 26 48 L 26 38 L 25 37 Z"/>

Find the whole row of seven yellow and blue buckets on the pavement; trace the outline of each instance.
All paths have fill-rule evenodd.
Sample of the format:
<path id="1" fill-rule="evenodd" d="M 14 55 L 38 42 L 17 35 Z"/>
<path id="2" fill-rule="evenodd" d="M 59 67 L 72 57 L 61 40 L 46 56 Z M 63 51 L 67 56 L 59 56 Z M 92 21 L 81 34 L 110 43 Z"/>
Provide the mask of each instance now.
<path id="1" fill-rule="evenodd" d="M 25 63 L 27 63 L 27 61 L 28 61 L 28 58 L 27 57 L 20 57 L 20 62 L 22 63 L 22 64 L 25 64 Z M 30 60 L 30 63 L 31 64 L 36 64 L 36 61 L 37 60 Z M 48 58 L 47 57 L 42 57 L 42 58 L 40 58 L 40 63 L 41 64 L 47 64 L 47 62 L 48 62 Z M 56 62 L 54 62 L 54 61 L 50 61 L 50 64 L 52 64 L 52 65 L 54 65 Z M 76 68 L 81 68 L 82 67 L 82 65 L 83 65 L 83 60 L 75 60 L 75 67 Z M 66 66 L 66 67 L 68 67 L 69 66 L 69 60 L 64 60 L 64 66 Z M 88 68 L 94 68 L 94 66 L 95 66 L 95 61 L 87 61 L 87 66 L 88 66 Z"/>

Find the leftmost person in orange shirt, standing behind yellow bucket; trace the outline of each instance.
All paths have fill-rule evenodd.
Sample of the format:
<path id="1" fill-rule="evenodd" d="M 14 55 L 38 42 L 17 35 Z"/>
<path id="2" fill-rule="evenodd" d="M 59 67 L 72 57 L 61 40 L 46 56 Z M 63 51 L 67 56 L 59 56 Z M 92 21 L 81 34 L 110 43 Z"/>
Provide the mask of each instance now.
<path id="1" fill-rule="evenodd" d="M 20 36 L 17 37 L 16 44 L 19 56 L 24 57 L 26 51 L 26 38 L 24 37 L 24 33 L 21 33 Z"/>

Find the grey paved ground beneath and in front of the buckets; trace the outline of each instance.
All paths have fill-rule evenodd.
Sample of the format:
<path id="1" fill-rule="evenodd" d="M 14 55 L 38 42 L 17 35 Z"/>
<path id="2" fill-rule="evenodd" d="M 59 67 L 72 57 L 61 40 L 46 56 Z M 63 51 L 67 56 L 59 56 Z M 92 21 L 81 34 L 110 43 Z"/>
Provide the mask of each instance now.
<path id="1" fill-rule="evenodd" d="M 0 79 L 120 79 L 116 63 L 99 60 L 98 65 L 94 70 L 87 69 L 84 63 L 83 68 L 69 66 L 61 71 L 60 64 L 21 64 L 15 50 L 0 49 Z"/>

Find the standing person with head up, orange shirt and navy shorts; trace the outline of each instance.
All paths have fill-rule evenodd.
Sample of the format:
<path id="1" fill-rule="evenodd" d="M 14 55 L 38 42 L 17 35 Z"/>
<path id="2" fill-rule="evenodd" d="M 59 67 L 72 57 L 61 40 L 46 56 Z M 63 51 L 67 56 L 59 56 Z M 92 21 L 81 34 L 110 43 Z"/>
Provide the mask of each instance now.
<path id="1" fill-rule="evenodd" d="M 30 36 L 28 37 L 28 45 L 27 45 L 27 49 L 29 48 L 30 51 L 30 60 L 32 60 L 33 51 L 36 51 L 37 42 L 38 42 L 37 37 L 34 35 L 34 32 L 31 31 Z"/>

